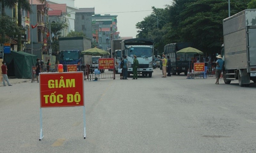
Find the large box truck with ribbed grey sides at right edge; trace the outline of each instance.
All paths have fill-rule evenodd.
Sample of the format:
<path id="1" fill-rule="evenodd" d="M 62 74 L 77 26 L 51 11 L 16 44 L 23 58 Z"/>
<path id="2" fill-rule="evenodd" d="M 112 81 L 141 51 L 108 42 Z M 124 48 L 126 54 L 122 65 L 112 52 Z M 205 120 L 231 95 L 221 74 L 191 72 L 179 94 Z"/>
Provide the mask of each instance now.
<path id="1" fill-rule="evenodd" d="M 225 84 L 238 79 L 240 86 L 256 82 L 256 9 L 241 11 L 223 20 Z"/>

